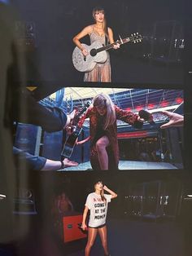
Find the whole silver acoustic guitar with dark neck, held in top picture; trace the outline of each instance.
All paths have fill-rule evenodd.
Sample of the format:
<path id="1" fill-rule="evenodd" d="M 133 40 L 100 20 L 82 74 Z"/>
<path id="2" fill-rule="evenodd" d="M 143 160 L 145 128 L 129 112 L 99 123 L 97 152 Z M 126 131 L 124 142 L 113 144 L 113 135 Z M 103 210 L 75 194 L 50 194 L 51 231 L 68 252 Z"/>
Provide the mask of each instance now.
<path id="1" fill-rule="evenodd" d="M 82 43 L 85 47 L 88 55 L 83 55 L 80 48 L 76 46 L 72 52 L 72 63 L 76 70 L 80 72 L 89 72 L 94 69 L 97 63 L 104 63 L 107 60 L 107 50 L 111 49 L 114 45 L 119 43 L 120 45 L 126 42 L 142 42 L 142 36 L 138 33 L 131 34 L 130 37 L 117 40 L 114 43 L 103 46 L 101 42 L 93 42 L 90 46 Z"/>

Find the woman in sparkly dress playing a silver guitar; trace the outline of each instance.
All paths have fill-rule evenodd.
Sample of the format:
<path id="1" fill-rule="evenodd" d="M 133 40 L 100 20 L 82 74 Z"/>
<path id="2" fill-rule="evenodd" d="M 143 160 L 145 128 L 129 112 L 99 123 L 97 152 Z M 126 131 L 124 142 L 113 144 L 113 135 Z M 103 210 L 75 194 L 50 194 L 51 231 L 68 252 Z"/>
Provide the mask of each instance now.
<path id="1" fill-rule="evenodd" d="M 91 24 L 85 29 L 81 30 L 72 40 L 80 48 L 84 56 L 89 53 L 86 51 L 85 47 L 81 45 L 80 39 L 89 35 L 90 43 L 101 42 L 102 45 L 107 45 L 108 43 L 114 43 L 112 29 L 107 27 L 107 22 L 105 19 L 105 12 L 102 7 L 95 7 L 93 10 L 94 24 Z M 113 46 L 114 49 L 119 48 L 120 45 L 116 44 Z M 107 60 L 104 63 L 98 63 L 95 65 L 94 69 L 85 73 L 85 82 L 111 82 L 111 64 L 110 56 L 107 52 Z"/>

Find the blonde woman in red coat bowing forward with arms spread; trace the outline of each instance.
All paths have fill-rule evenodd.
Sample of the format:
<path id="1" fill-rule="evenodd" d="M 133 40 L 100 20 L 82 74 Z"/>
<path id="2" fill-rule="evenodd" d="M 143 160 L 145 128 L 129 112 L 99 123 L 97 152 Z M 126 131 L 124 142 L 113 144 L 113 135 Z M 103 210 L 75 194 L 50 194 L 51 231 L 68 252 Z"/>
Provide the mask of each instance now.
<path id="1" fill-rule="evenodd" d="M 117 170 L 119 148 L 116 120 L 125 121 L 135 128 L 142 128 L 143 119 L 136 113 L 118 108 L 111 98 L 103 93 L 96 95 L 88 108 L 85 118 L 89 117 L 90 136 L 76 144 L 90 139 L 90 163 L 94 170 Z M 149 117 L 152 119 L 152 116 Z M 147 120 L 150 121 L 150 120 Z"/>

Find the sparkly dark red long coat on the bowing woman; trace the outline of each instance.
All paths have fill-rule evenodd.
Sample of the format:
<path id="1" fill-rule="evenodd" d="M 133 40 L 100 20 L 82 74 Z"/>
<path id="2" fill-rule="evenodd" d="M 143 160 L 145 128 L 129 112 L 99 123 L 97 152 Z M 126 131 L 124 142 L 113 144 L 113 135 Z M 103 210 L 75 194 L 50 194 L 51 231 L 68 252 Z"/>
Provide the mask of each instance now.
<path id="1" fill-rule="evenodd" d="M 120 109 L 116 105 L 114 107 L 116 111 L 116 119 L 125 121 L 136 128 L 142 127 L 142 122 L 137 121 L 137 117 L 138 117 L 137 114 Z M 93 170 L 101 170 L 98 162 L 98 153 L 96 151 L 95 143 L 103 135 L 106 135 L 107 138 L 109 139 L 109 146 L 107 147 L 108 163 L 109 163 L 108 168 L 109 170 L 118 169 L 119 147 L 118 147 L 118 141 L 117 141 L 116 121 L 113 123 L 113 125 L 108 126 L 107 130 L 103 130 L 103 134 L 99 136 L 97 135 L 98 123 L 100 121 L 99 119 L 101 119 L 102 117 L 98 114 L 95 107 L 88 108 L 87 113 L 85 114 L 84 120 L 87 117 L 89 117 L 89 127 L 90 127 L 89 129 L 90 129 L 90 140 L 91 140 L 90 163 Z"/>

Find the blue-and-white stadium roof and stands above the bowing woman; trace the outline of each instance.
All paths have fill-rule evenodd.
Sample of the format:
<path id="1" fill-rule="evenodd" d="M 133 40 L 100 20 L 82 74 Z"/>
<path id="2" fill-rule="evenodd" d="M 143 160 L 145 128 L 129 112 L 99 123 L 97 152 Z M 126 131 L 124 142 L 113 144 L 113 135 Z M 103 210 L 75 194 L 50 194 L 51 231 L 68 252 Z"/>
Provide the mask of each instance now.
<path id="1" fill-rule="evenodd" d="M 140 109 L 168 108 L 174 110 L 183 102 L 183 90 L 165 89 L 127 89 L 127 88 L 94 88 L 73 87 L 65 88 L 61 108 L 68 112 L 68 105 L 80 108 L 85 100 L 92 100 L 98 93 L 110 95 L 111 100 L 118 107 L 137 112 Z M 55 95 L 42 99 L 41 104 L 54 106 Z"/>

